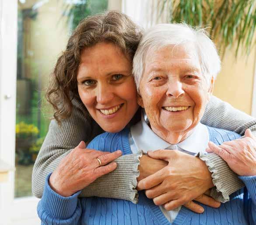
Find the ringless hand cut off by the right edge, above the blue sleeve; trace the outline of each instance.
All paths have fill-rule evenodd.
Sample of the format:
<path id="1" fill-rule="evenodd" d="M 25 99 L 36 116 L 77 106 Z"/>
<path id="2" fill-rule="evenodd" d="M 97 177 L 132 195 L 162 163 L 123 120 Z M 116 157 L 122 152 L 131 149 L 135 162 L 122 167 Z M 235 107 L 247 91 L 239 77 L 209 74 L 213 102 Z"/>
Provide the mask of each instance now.
<path id="1" fill-rule="evenodd" d="M 220 146 L 209 142 L 207 152 L 214 152 L 240 176 L 256 176 L 256 138 L 247 129 L 245 137 L 227 141 Z"/>

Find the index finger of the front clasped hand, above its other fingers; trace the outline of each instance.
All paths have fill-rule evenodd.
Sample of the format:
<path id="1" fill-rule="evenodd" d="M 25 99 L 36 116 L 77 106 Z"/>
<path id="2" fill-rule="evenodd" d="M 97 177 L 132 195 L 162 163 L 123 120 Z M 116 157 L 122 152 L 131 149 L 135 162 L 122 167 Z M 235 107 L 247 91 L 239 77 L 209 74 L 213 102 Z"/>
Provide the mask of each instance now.
<path id="1" fill-rule="evenodd" d="M 144 190 L 149 189 L 151 187 L 155 187 L 157 184 L 160 184 L 163 182 L 164 178 L 166 177 L 165 168 L 157 171 L 155 174 L 152 174 L 141 181 L 138 181 L 137 184 L 137 190 Z"/>

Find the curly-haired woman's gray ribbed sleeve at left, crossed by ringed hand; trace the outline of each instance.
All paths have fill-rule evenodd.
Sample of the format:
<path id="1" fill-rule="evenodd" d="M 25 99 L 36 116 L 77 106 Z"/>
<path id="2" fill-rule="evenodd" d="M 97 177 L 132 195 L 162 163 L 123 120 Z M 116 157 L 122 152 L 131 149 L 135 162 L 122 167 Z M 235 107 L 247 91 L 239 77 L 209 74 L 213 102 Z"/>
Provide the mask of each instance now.
<path id="1" fill-rule="evenodd" d="M 87 142 L 91 137 L 99 134 L 100 129 L 99 127 L 97 128 L 97 124 L 91 126 L 84 113 L 83 104 L 73 99 L 72 115 L 68 119 L 64 119 L 61 126 L 55 120 L 51 121 L 32 173 L 32 193 L 37 198 L 42 197 L 45 177 L 55 170 L 60 161 L 81 140 Z M 80 197 L 111 197 L 137 202 L 138 193 L 135 188 L 139 175 L 138 157 L 139 153 L 119 157 L 116 160 L 117 169 L 98 178 L 93 184 L 84 188 Z"/>

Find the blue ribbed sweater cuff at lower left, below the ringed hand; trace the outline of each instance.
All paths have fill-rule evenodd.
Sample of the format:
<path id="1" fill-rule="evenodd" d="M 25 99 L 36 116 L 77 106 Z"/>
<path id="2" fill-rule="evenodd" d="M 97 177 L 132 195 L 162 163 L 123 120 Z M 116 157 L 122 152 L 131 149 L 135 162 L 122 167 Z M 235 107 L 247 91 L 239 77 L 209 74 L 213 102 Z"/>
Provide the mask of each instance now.
<path id="1" fill-rule="evenodd" d="M 48 174 L 45 179 L 44 192 L 38 205 L 40 205 L 41 210 L 48 212 L 48 214 L 53 217 L 61 219 L 70 218 L 76 211 L 78 195 L 81 191 L 78 191 L 69 197 L 62 197 L 53 191 L 48 184 L 51 174 L 52 173 Z"/>

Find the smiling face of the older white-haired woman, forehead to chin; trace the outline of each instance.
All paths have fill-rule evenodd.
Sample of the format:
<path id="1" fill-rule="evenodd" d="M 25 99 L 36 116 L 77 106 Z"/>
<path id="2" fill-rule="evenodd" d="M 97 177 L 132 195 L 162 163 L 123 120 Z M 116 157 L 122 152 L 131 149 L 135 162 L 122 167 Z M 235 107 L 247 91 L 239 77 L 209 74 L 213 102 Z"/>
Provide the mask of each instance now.
<path id="1" fill-rule="evenodd" d="M 149 51 L 139 86 L 138 103 L 145 108 L 152 130 L 187 132 L 200 121 L 210 93 L 201 73 L 194 44 Z"/>

